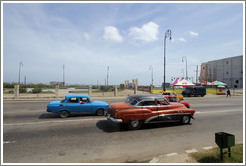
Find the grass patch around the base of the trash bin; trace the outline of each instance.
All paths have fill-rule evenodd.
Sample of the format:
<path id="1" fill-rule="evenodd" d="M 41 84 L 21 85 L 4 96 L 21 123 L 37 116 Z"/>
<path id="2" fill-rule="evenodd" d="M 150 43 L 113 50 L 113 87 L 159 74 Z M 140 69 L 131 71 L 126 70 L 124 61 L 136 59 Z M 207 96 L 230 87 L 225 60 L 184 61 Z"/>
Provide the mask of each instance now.
<path id="1" fill-rule="evenodd" d="M 227 148 L 223 149 L 223 152 L 227 151 Z M 231 157 L 229 158 L 228 154 L 224 154 L 223 161 L 220 160 L 220 148 L 218 147 L 190 155 L 199 163 L 243 163 L 243 144 L 231 147 Z"/>

